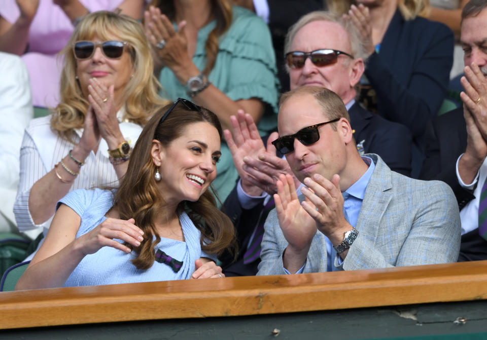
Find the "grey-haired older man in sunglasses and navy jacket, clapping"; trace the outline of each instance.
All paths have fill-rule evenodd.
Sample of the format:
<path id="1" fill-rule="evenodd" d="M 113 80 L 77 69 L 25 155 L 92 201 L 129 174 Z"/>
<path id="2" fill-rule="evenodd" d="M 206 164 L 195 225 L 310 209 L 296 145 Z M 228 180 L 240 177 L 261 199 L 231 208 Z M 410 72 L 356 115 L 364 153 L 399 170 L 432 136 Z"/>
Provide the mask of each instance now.
<path id="1" fill-rule="evenodd" d="M 303 16 L 286 37 L 291 89 L 314 85 L 338 94 L 349 111 L 359 154 L 378 154 L 392 170 L 409 175 L 412 141 L 408 129 L 371 114 L 355 102 L 355 86 L 364 72 L 361 46 L 355 27 L 340 17 L 327 12 Z M 229 131 L 225 132 L 225 138 L 240 181 L 224 208 L 236 225 L 241 250 L 236 263 L 229 264 L 225 258 L 221 260 L 227 276 L 251 275 L 256 273 L 260 260 L 257 254 L 260 254 L 260 246 L 256 243 L 260 244 L 263 235 L 260 227 L 269 211 L 264 207 L 269 195 L 276 193 L 275 182 L 279 175 L 292 172 L 285 160 L 275 156 L 275 149 L 269 142 L 265 147 L 250 116 L 241 112 L 233 117 L 232 126 L 233 139 Z M 269 140 L 276 137 L 271 135 Z M 295 182 L 298 183 L 297 179 Z M 249 249 L 258 250 L 250 256 Z M 247 260 L 244 259 L 246 253 Z M 244 268 L 251 268 L 251 271 Z"/>

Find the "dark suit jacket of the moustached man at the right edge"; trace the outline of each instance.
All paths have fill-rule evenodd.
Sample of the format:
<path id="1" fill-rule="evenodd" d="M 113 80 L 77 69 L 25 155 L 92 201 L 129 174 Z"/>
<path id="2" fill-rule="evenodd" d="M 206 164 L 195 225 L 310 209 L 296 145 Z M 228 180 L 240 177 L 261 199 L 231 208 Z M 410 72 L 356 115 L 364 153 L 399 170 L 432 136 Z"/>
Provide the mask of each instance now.
<path id="1" fill-rule="evenodd" d="M 467 129 L 463 108 L 446 112 L 433 120 L 431 130 L 427 131 L 429 144 L 426 160 L 420 178 L 438 179 L 447 183 L 458 201 L 460 210 L 475 196 L 460 186 L 457 179 L 458 157 L 467 147 Z M 478 229 L 462 235 L 459 261 L 487 259 L 487 241 L 478 235 Z"/>

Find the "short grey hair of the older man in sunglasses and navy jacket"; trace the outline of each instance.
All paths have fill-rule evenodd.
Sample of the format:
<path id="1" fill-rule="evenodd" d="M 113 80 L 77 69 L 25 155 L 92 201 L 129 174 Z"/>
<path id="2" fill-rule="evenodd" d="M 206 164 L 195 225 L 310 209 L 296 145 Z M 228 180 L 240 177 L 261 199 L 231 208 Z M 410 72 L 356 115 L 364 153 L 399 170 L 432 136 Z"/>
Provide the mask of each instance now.
<path id="1" fill-rule="evenodd" d="M 301 28 L 303 28 L 303 26 L 313 21 L 330 21 L 330 22 L 335 22 L 339 24 L 341 27 L 343 27 L 345 32 L 347 32 L 347 34 L 349 35 L 350 47 L 354 58 L 356 59 L 362 58 L 364 62 L 366 61 L 368 55 L 365 49 L 365 45 L 363 44 L 360 33 L 355 27 L 355 25 L 349 20 L 343 19 L 341 15 L 338 15 L 333 12 L 327 12 L 327 11 L 310 12 L 302 16 L 293 26 L 289 28 L 288 34 L 286 35 L 286 42 L 284 45 L 285 55 L 286 53 L 291 51 L 291 44 L 293 43 L 296 33 Z M 317 32 L 317 34 L 324 34 L 324 32 Z M 326 46 L 324 48 L 326 48 Z M 308 51 L 304 51 L 304 52 L 308 52 Z"/>

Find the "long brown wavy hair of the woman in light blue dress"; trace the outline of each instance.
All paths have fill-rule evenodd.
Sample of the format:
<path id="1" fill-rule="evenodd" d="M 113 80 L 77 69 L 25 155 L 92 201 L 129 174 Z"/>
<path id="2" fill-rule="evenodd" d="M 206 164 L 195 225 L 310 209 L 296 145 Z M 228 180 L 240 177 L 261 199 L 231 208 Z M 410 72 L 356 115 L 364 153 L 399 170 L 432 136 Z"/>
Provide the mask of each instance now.
<path id="1" fill-rule="evenodd" d="M 155 236 L 155 241 L 152 241 L 152 237 L 145 237 L 136 248 L 125 244 L 138 254 L 132 260 L 137 269 L 148 269 L 153 265 L 154 247 L 161 240 L 154 219 L 165 203 L 154 178 L 156 166 L 151 156 L 152 140 L 157 139 L 163 147 L 167 147 L 182 135 L 187 125 L 198 122 L 210 123 L 218 130 L 220 139 L 223 136 L 217 116 L 203 107 L 199 111 L 191 111 L 184 105 L 177 104 L 164 122 L 159 124 L 169 106 L 160 108 L 144 127 L 133 148 L 127 172 L 114 197 L 114 207 L 118 209 L 120 218 L 134 218 L 135 225 L 141 228 L 145 235 Z M 210 185 L 210 190 L 204 192 L 196 202 L 182 201 L 177 210 L 178 214 L 186 211 L 201 232 L 201 249 L 210 254 L 221 254 L 227 248 L 231 251 L 234 248 L 234 228 L 230 218 L 217 208 L 212 192 L 213 187 Z"/>

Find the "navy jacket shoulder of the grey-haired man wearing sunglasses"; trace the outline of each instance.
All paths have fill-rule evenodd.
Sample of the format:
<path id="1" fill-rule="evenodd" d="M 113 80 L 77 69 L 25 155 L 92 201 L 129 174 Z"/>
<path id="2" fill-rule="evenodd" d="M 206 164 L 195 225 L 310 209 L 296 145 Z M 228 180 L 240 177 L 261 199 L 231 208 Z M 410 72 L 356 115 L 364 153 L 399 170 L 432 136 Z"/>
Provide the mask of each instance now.
<path id="1" fill-rule="evenodd" d="M 364 153 L 377 154 L 391 170 L 410 176 L 412 137 L 409 130 L 372 114 L 358 102 L 352 105 L 349 115 L 355 141 L 364 141 Z"/>

